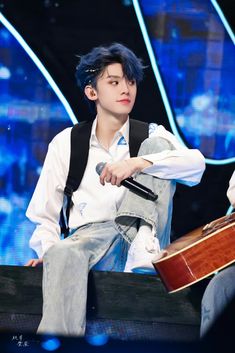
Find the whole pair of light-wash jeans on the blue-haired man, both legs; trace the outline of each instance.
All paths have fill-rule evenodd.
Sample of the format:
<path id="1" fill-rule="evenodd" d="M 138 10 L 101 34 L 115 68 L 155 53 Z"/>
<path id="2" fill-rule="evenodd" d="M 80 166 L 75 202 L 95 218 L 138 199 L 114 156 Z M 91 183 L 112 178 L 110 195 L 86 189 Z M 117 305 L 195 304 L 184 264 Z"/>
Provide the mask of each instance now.
<path id="1" fill-rule="evenodd" d="M 146 139 L 139 155 L 170 149 L 161 138 Z M 85 334 L 87 280 L 91 268 L 123 271 L 140 219 L 154 227 L 161 246 L 170 241 L 175 183 L 140 173 L 136 180 L 158 194 L 149 201 L 128 191 L 115 220 L 78 228 L 43 257 L 43 316 L 38 333 Z M 144 304 L 143 304 L 144 305 Z"/>

